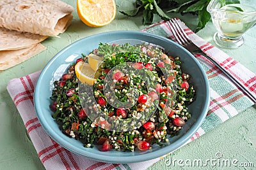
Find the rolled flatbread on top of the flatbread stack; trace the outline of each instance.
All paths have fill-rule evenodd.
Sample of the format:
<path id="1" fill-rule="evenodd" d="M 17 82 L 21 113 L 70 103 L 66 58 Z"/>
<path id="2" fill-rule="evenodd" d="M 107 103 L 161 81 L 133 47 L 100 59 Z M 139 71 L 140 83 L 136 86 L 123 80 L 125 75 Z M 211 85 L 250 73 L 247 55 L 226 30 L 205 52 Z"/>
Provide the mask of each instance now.
<path id="1" fill-rule="evenodd" d="M 72 6 L 59 0 L 4 0 L 0 27 L 56 37 L 71 24 L 72 11 Z"/>

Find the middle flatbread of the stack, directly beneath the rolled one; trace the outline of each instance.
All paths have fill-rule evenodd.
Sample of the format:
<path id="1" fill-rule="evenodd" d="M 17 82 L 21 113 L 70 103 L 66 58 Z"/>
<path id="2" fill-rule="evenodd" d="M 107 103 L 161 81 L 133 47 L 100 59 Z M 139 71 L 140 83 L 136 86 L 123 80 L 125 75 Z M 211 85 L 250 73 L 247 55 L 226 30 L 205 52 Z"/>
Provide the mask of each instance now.
<path id="1" fill-rule="evenodd" d="M 19 32 L 0 27 L 0 51 L 27 48 L 44 41 L 47 37 L 48 36 L 40 36 L 39 34 Z"/>

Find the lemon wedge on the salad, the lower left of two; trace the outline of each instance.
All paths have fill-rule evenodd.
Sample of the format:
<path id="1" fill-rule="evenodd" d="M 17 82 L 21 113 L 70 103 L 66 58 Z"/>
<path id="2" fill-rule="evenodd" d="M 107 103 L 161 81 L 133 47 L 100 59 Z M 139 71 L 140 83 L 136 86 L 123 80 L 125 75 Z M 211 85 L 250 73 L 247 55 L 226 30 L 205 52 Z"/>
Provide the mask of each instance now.
<path id="1" fill-rule="evenodd" d="M 77 62 L 75 72 L 78 80 L 82 83 L 93 85 L 95 82 L 94 78 L 97 76 L 96 71 L 94 71 L 88 63 L 83 61 Z"/>

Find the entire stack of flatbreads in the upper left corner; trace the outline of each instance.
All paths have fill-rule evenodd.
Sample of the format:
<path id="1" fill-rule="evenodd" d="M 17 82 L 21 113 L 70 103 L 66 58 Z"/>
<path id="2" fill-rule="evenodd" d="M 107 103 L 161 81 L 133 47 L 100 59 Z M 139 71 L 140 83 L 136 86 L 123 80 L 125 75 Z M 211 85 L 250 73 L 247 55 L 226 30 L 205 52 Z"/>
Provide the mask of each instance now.
<path id="1" fill-rule="evenodd" d="M 73 10 L 59 0 L 0 0 L 0 71 L 45 50 L 40 42 L 64 32 Z"/>

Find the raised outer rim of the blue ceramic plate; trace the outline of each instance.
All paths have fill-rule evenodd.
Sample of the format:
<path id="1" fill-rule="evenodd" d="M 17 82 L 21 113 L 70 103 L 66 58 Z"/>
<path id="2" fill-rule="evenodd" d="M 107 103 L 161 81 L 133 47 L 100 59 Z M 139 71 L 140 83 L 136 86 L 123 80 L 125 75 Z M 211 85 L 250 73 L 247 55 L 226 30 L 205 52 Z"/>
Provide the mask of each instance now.
<path id="1" fill-rule="evenodd" d="M 42 125 L 44 131 L 47 133 L 47 135 L 49 135 L 54 141 L 56 141 L 56 143 L 58 143 L 63 148 L 66 148 L 67 150 L 70 150 L 71 152 L 74 152 L 78 155 L 88 157 L 90 159 L 94 159 L 94 160 L 98 160 L 98 161 L 102 161 L 102 162 L 109 162 L 109 163 L 134 163 L 134 162 L 142 162 L 142 161 L 146 161 L 146 160 L 156 159 L 157 157 L 161 157 L 161 156 L 166 155 L 170 152 L 174 152 L 175 150 L 180 148 L 182 145 L 185 145 L 186 141 L 188 141 L 189 138 L 191 138 L 191 136 L 193 136 L 193 134 L 195 134 L 195 132 L 199 129 L 200 125 L 202 125 L 202 122 L 205 119 L 205 116 L 207 114 L 207 110 L 209 108 L 209 103 L 210 103 L 209 81 L 207 79 L 205 71 L 204 71 L 203 67 L 201 66 L 200 62 L 198 62 L 198 60 L 191 53 L 189 53 L 188 50 L 186 50 L 185 48 L 183 48 L 183 50 L 185 50 L 186 53 L 191 55 L 191 58 L 193 58 L 193 60 L 195 60 L 196 65 L 199 67 L 200 71 L 202 71 L 204 81 L 205 81 L 205 91 L 207 92 L 207 94 L 206 94 L 206 100 L 207 101 L 205 101 L 204 108 L 202 109 L 203 114 L 201 114 L 198 117 L 199 120 L 196 120 L 195 124 L 193 124 L 193 126 L 190 127 L 189 130 L 183 136 L 181 136 L 177 141 L 175 141 L 171 145 L 168 145 L 168 146 L 164 147 L 164 148 L 166 148 L 166 147 L 171 148 L 172 151 L 166 150 L 166 151 L 163 152 L 162 149 L 159 149 L 159 150 L 156 150 L 154 152 L 147 153 L 147 154 L 141 154 L 141 155 L 143 155 L 142 159 L 141 159 L 141 155 L 134 155 L 132 157 L 125 157 L 125 160 L 115 161 L 115 160 L 112 159 L 113 157 L 111 157 L 109 155 L 108 156 L 99 155 L 99 154 L 95 154 L 95 153 L 92 153 L 92 152 L 86 152 L 86 151 L 85 152 L 87 154 L 77 152 L 77 150 L 70 147 L 70 145 L 67 146 L 67 142 L 63 143 L 63 142 L 59 141 L 58 138 L 56 138 L 56 136 L 54 136 L 54 134 L 56 134 L 56 135 L 58 135 L 58 134 L 54 131 L 51 131 L 51 129 L 49 129 L 48 125 L 44 124 L 45 118 L 42 117 L 42 113 L 40 114 L 40 108 L 37 107 L 37 104 L 39 103 L 39 101 L 38 101 L 38 99 L 39 99 L 38 98 L 38 94 L 39 94 L 38 89 L 40 89 L 39 88 L 40 87 L 39 83 L 40 83 L 40 81 L 42 81 L 42 78 L 44 78 L 44 74 L 47 73 L 47 69 L 49 67 L 51 67 L 51 64 L 54 62 L 54 60 L 56 60 L 58 58 L 58 56 L 60 56 L 64 52 L 66 52 L 69 48 L 76 45 L 77 43 L 80 43 L 81 41 L 85 41 L 85 39 L 90 39 L 90 38 L 94 38 L 94 37 L 97 37 L 97 36 L 109 36 L 109 34 L 140 34 L 142 36 L 145 35 L 145 36 L 150 36 L 150 37 L 157 38 L 157 39 L 164 39 L 165 41 L 169 41 L 169 43 L 172 43 L 172 44 L 178 46 L 179 48 L 183 48 L 179 44 L 175 43 L 174 41 L 172 41 L 170 39 L 164 38 L 163 36 L 159 36 L 159 35 L 156 35 L 156 34 L 151 34 L 151 33 L 148 33 L 148 32 L 140 32 L 140 31 L 109 31 L 109 32 L 102 32 L 102 33 L 99 33 L 99 34 L 94 34 L 92 36 L 88 36 L 88 37 L 85 37 L 85 38 L 81 38 L 77 41 L 74 41 L 73 43 L 70 43 L 70 45 L 65 46 L 62 50 L 60 50 L 60 52 L 56 53 L 56 55 L 54 55 L 54 57 L 52 57 L 52 59 L 49 60 L 49 62 L 47 62 L 44 69 L 42 69 L 42 72 L 38 76 L 38 80 L 36 81 L 35 92 L 34 92 L 34 96 L 33 96 L 34 107 L 35 107 L 35 111 L 36 111 L 36 117 L 38 117 L 38 120 L 39 120 L 40 124 Z M 56 124 L 57 124 L 57 122 L 56 122 Z M 68 138 L 68 136 L 67 136 L 67 138 Z M 173 145 L 173 144 L 175 144 L 175 145 Z M 114 156 L 114 157 L 116 157 L 116 156 Z"/>

